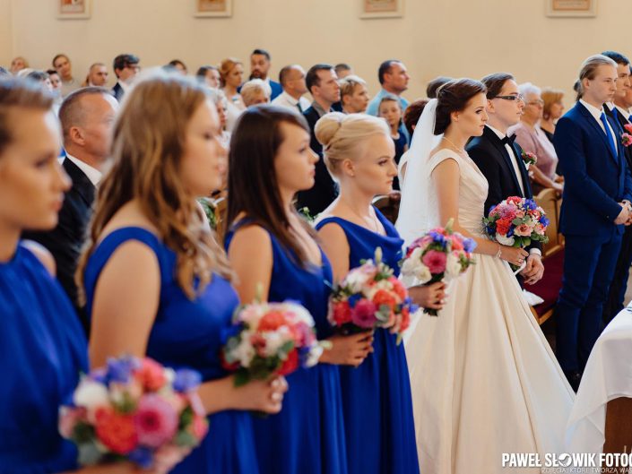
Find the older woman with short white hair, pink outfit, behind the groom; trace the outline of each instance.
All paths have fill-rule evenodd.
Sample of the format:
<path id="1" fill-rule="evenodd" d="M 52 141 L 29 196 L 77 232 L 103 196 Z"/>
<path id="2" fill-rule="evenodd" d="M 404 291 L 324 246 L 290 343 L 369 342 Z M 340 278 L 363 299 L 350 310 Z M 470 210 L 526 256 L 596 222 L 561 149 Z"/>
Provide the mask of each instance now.
<path id="1" fill-rule="evenodd" d="M 523 117 L 518 125 L 509 129 L 508 134 L 515 134 L 517 142 L 524 151 L 533 153 L 538 162 L 529 169 L 533 181 L 533 194 L 544 188 L 553 188 L 561 194 L 563 185 L 558 183 L 555 169 L 558 166 L 558 154 L 544 132 L 540 129 L 540 121 L 544 108 L 541 90 L 531 82 L 518 87 L 524 97 Z"/>

